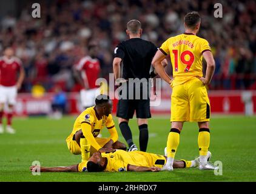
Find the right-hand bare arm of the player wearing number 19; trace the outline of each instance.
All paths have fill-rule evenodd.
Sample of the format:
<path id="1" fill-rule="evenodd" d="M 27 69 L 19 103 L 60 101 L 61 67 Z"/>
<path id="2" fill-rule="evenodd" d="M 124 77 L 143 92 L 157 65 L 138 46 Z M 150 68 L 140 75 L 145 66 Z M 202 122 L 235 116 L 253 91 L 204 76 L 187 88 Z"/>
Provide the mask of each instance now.
<path id="1" fill-rule="evenodd" d="M 212 52 L 209 50 L 203 52 L 203 58 L 206 60 L 207 63 L 206 76 L 205 78 L 200 78 L 200 80 L 207 85 L 211 82 L 212 76 L 214 75 L 215 61 Z"/>

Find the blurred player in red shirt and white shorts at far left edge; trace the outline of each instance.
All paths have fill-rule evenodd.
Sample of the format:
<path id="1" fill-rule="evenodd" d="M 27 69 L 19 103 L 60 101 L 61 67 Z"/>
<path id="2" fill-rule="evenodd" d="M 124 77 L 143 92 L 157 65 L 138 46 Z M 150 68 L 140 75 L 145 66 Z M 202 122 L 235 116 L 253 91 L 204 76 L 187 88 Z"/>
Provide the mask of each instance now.
<path id="1" fill-rule="evenodd" d="M 18 73 L 19 76 L 17 76 Z M 21 60 L 16 58 L 13 49 L 8 47 L 4 50 L 4 56 L 0 58 L 0 133 L 4 133 L 2 117 L 5 103 L 8 104 L 6 132 L 15 133 L 12 128 L 13 108 L 24 77 L 25 72 Z"/>

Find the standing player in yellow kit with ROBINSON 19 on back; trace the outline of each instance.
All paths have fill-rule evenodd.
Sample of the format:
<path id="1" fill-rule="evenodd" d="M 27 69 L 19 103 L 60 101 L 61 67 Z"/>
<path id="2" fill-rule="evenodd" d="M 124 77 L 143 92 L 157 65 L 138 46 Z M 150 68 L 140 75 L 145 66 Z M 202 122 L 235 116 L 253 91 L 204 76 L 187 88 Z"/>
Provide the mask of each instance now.
<path id="1" fill-rule="evenodd" d="M 197 36 L 200 15 L 187 13 L 184 18 L 185 32 L 167 39 L 153 58 L 157 73 L 172 87 L 171 118 L 172 129 L 167 139 L 167 162 L 163 170 L 173 170 L 173 161 L 180 143 L 180 132 L 185 121 L 198 122 L 199 169 L 215 169 L 207 162 L 210 145 L 210 102 L 206 85 L 211 82 L 215 61 L 206 39 Z M 161 60 L 170 55 L 173 79 L 164 71 Z M 203 58 L 207 62 L 206 76 L 203 77 Z"/>

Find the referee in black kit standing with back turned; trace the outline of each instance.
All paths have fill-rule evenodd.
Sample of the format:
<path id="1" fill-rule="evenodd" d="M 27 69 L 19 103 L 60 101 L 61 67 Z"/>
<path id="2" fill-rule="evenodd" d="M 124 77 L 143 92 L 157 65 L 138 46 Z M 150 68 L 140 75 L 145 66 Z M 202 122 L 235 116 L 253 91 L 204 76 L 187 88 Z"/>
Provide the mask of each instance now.
<path id="1" fill-rule="evenodd" d="M 140 130 L 140 150 L 146 152 L 149 139 L 147 119 L 151 118 L 148 92 L 150 91 L 149 78 L 156 76 L 154 71 L 150 73 L 150 67 L 153 56 L 158 49 L 152 42 L 140 38 L 142 33 L 140 21 L 133 19 L 127 22 L 126 33 L 129 35 L 129 40 L 118 44 L 115 49 L 115 58 L 113 59 L 113 73 L 115 75 L 115 80 L 120 78 L 120 65 L 123 61 L 123 79 L 127 84 L 126 99 L 119 99 L 116 116 L 118 117 L 121 133 L 129 146 L 128 151 L 135 151 L 138 150 L 138 148 L 133 143 L 132 132 L 128 122 L 129 119 L 133 118 L 133 114 L 136 111 L 137 123 Z M 167 65 L 166 59 L 162 61 L 162 64 L 164 67 Z M 138 79 L 130 82 L 131 79 L 129 80 L 129 78 Z M 143 85 L 145 85 L 145 80 L 147 85 L 146 88 L 143 87 Z M 138 82 L 140 82 L 140 85 L 138 85 Z M 123 92 L 123 90 L 121 91 Z M 131 94 L 132 92 L 133 95 L 129 95 L 129 93 Z M 143 96 L 143 93 L 145 94 L 145 92 L 147 92 L 146 98 Z M 140 94 L 140 99 L 136 99 L 135 97 L 135 94 L 138 93 Z M 131 96 L 133 97 L 132 99 Z"/>

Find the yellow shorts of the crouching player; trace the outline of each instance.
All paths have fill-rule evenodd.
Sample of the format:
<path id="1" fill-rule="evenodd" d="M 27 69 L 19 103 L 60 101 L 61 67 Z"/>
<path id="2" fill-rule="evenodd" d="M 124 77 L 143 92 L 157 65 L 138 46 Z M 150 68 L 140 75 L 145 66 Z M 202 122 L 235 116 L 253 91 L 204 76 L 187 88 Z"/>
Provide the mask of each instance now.
<path id="1" fill-rule="evenodd" d="M 74 133 L 71 133 L 67 139 L 67 147 L 69 148 L 69 151 L 75 155 L 80 155 L 81 154 L 81 148 L 78 146 L 78 143 L 75 141 Z M 99 146 L 103 147 L 109 140 L 110 138 L 95 138 L 96 142 L 99 144 Z M 97 152 L 96 149 L 91 147 L 90 149 L 90 155 L 93 153 Z"/>

